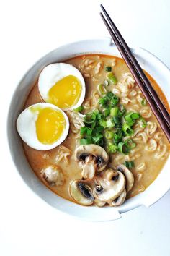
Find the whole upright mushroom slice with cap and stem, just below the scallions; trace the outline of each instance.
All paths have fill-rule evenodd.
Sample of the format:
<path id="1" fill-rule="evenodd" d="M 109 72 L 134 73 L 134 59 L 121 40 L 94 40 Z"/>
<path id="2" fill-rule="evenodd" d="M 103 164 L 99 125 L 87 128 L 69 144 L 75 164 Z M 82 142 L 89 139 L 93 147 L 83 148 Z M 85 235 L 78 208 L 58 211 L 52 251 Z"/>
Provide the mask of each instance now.
<path id="1" fill-rule="evenodd" d="M 76 148 L 76 161 L 81 163 L 82 177 L 92 179 L 96 171 L 102 171 L 107 166 L 109 156 L 104 148 L 89 144 Z"/>

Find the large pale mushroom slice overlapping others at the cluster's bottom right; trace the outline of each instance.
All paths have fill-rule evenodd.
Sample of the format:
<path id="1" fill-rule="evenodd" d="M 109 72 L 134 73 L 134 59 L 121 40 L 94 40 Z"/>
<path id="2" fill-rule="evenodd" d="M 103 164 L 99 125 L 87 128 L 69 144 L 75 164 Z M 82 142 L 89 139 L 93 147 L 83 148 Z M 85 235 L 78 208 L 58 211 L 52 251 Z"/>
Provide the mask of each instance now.
<path id="1" fill-rule="evenodd" d="M 111 168 L 95 177 L 94 197 L 102 202 L 115 200 L 125 189 L 125 176 Z"/>

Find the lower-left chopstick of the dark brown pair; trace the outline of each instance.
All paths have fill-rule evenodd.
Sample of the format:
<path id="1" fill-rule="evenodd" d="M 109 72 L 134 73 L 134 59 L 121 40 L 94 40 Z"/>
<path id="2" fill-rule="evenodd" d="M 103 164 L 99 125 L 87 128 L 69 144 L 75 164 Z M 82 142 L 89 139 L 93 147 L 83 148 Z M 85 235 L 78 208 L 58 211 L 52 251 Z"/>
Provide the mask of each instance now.
<path id="1" fill-rule="evenodd" d="M 104 9 L 104 12 L 106 12 L 105 9 Z M 134 62 L 132 61 L 132 58 L 129 57 L 129 55 L 133 56 L 130 52 L 130 49 L 128 50 L 129 51 L 129 55 L 128 55 L 127 52 L 125 51 L 124 47 L 120 43 L 120 40 L 117 39 L 117 36 L 112 31 L 112 28 L 109 26 L 109 24 L 107 23 L 107 20 L 105 20 L 103 14 L 102 13 L 100 13 L 100 14 L 102 16 L 102 20 L 104 21 L 104 24 L 106 25 L 107 29 L 109 30 L 110 35 L 112 36 L 112 39 L 115 42 L 115 45 L 117 46 L 118 50 L 120 51 L 120 54 L 122 55 L 122 58 L 125 60 L 126 64 L 128 65 L 130 72 L 132 72 L 133 77 L 135 78 L 135 81 L 138 83 L 140 90 L 142 91 L 143 95 L 146 97 L 146 100 L 148 101 L 149 105 L 151 106 L 153 113 L 155 114 L 156 118 L 158 119 L 158 122 L 161 125 L 161 128 L 163 129 L 166 137 L 168 138 L 168 140 L 170 142 L 170 126 L 169 126 L 169 122 L 168 122 L 169 119 L 166 121 L 166 119 L 164 118 L 164 115 L 163 115 L 164 110 L 162 111 L 161 108 L 158 107 L 157 101 L 154 98 L 152 98 L 151 93 L 149 93 L 149 91 L 148 91 L 148 87 L 145 83 L 145 80 L 143 80 L 140 77 L 140 74 L 138 73 L 137 69 L 135 68 L 136 66 L 135 66 Z M 126 44 L 126 47 L 128 47 L 127 44 Z M 133 59 L 135 59 L 134 56 L 133 56 Z M 143 70 L 141 69 L 140 72 L 143 72 Z"/>

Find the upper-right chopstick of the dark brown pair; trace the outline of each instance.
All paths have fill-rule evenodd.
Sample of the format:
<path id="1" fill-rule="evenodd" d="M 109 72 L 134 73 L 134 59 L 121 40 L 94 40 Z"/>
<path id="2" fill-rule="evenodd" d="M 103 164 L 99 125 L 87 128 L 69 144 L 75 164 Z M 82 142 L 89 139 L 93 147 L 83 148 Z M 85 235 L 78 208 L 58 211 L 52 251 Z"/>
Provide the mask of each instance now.
<path id="1" fill-rule="evenodd" d="M 156 104 L 158 108 L 160 109 L 161 113 L 164 116 L 164 119 L 166 119 L 166 122 L 169 124 L 170 127 L 170 116 L 168 111 L 166 110 L 164 104 L 161 102 L 160 98 L 158 98 L 158 95 L 156 91 L 153 89 L 151 83 L 149 82 L 148 78 L 146 77 L 146 74 L 143 72 L 143 69 L 141 69 L 140 65 L 138 64 L 137 59 L 133 56 L 133 54 L 130 51 L 130 48 L 128 47 L 127 43 L 125 42 L 124 38 L 122 38 L 122 35 L 120 34 L 120 31 L 117 29 L 115 23 L 112 21 L 112 19 L 109 17 L 109 14 L 104 9 L 104 7 L 101 4 L 101 8 L 104 12 L 104 14 L 107 17 L 107 20 L 109 20 L 109 24 L 111 25 L 112 29 L 115 32 L 115 35 L 117 35 L 117 39 L 122 44 L 123 48 L 125 49 L 127 55 L 129 56 L 130 61 L 133 63 L 136 71 L 138 72 L 138 75 L 140 75 L 141 79 L 143 80 L 143 83 L 146 85 L 148 92 L 151 94 L 151 97 L 156 101 Z"/>

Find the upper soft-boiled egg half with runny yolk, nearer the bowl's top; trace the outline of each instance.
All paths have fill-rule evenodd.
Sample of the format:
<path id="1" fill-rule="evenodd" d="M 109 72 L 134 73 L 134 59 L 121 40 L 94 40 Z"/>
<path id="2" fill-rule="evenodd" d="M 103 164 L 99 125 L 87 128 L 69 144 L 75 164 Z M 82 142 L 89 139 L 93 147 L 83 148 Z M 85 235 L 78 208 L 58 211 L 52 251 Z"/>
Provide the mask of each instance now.
<path id="1" fill-rule="evenodd" d="M 81 72 L 65 63 L 50 64 L 42 69 L 38 88 L 45 102 L 52 103 L 64 111 L 81 106 L 86 90 Z"/>

